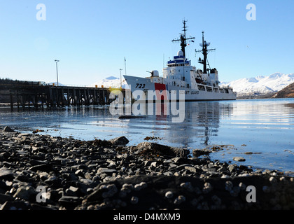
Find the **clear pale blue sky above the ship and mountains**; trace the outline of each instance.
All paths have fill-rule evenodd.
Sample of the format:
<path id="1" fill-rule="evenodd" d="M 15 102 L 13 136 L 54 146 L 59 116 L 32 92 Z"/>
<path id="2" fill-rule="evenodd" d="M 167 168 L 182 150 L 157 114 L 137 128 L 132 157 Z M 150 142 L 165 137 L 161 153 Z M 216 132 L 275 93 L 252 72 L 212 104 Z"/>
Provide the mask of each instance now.
<path id="1" fill-rule="evenodd" d="M 37 20 L 38 3 L 45 20 Z M 254 3 L 256 20 L 247 20 Z M 0 0 L 0 78 L 91 85 L 108 76 L 149 76 L 180 49 L 182 20 L 195 37 L 187 51 L 193 65 L 202 31 L 216 51 L 211 67 L 221 81 L 294 73 L 293 0 Z"/>

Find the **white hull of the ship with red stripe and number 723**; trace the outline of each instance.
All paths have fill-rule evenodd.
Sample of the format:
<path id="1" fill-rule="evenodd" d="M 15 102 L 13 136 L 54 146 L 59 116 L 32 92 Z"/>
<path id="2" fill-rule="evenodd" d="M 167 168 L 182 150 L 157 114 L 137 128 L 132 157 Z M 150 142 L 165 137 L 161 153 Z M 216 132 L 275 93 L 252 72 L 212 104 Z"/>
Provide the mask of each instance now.
<path id="1" fill-rule="evenodd" d="M 209 85 L 197 85 L 197 88 L 181 87 L 168 84 L 170 82 L 165 78 L 162 79 L 161 83 L 155 83 L 151 78 L 141 78 L 137 76 L 125 76 L 125 80 L 134 98 L 137 98 L 140 92 L 144 92 L 145 100 L 148 102 L 172 102 L 181 100 L 189 102 L 236 99 L 236 92 L 232 92 L 230 88 L 211 87 Z M 142 99 L 142 97 L 138 98 Z"/>

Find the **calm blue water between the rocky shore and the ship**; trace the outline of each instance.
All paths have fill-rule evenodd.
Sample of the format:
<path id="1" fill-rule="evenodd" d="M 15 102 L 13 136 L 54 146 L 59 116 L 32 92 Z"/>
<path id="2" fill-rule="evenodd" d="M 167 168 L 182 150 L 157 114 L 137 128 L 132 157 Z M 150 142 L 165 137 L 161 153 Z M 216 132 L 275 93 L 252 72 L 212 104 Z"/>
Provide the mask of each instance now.
<path id="1" fill-rule="evenodd" d="M 261 169 L 294 172 L 294 99 L 251 99 L 223 102 L 187 102 L 183 123 L 172 116 L 146 116 L 120 120 L 108 107 L 69 107 L 66 109 L 25 109 L 11 113 L 0 108 L 0 125 L 20 132 L 44 130 L 41 134 L 76 139 L 113 139 L 125 136 L 130 145 L 158 137 L 158 144 L 188 148 L 223 150 L 212 159 L 232 161 L 242 156 Z M 161 105 L 165 107 L 164 104 Z M 253 154 L 245 154 L 251 152 Z"/>

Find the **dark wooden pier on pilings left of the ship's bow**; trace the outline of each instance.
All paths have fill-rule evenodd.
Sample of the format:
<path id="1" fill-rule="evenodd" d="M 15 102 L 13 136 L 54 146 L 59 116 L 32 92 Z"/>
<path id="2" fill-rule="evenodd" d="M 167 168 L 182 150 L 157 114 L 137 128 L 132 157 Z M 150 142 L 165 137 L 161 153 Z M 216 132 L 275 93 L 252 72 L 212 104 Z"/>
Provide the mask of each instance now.
<path id="1" fill-rule="evenodd" d="M 40 82 L 0 84 L 2 95 L 9 96 L 10 108 L 35 107 L 56 108 L 64 106 L 90 106 L 111 104 L 113 89 L 106 87 L 77 87 L 45 85 Z M 125 89 L 116 89 L 123 92 Z"/>

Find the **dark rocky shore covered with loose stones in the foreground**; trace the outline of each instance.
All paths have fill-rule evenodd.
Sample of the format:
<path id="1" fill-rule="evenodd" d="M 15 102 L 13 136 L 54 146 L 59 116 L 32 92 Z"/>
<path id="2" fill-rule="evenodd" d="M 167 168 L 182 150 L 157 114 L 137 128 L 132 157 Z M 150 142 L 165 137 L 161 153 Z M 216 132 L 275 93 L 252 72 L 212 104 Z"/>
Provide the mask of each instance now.
<path id="1" fill-rule="evenodd" d="M 294 209 L 294 179 L 125 137 L 0 131 L 0 210 Z"/>

